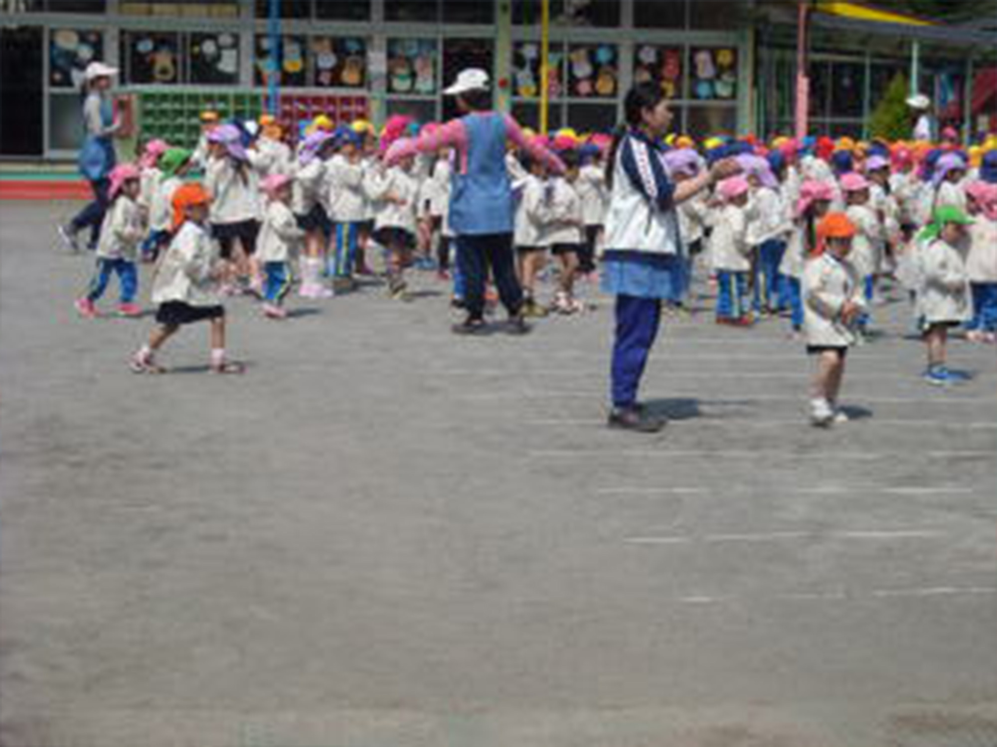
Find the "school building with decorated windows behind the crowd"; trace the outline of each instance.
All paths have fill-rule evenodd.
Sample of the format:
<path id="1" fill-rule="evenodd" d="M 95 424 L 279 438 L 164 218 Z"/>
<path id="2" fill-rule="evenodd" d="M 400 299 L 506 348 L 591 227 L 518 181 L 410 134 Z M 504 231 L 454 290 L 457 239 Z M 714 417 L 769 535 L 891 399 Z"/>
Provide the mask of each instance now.
<path id="1" fill-rule="evenodd" d="M 607 129 L 620 121 L 629 86 L 654 81 L 674 103 L 676 129 L 791 131 L 796 6 L 550 0 L 548 125 Z M 337 120 L 445 119 L 453 112 L 441 92 L 470 66 L 492 71 L 497 106 L 536 127 L 541 7 L 540 0 L 280 0 L 274 16 L 270 0 L 0 0 L 0 157 L 74 156 L 78 85 L 97 59 L 120 66 L 118 93 L 142 132 L 171 142 L 195 138 L 203 109 L 256 116 L 271 97 L 288 124 L 319 112 Z M 976 127 L 990 113 L 997 124 L 997 70 L 993 96 L 977 89 L 970 96 L 980 101 L 967 102 L 967 81 L 993 65 L 997 48 L 992 34 L 972 33 L 972 44 L 922 40 L 921 89 L 939 108 L 958 110 L 960 122 L 968 117 Z M 875 24 L 816 28 L 815 130 L 861 134 L 892 75 L 909 68 L 910 37 L 896 34 Z"/>

